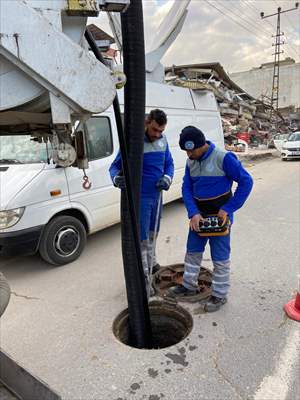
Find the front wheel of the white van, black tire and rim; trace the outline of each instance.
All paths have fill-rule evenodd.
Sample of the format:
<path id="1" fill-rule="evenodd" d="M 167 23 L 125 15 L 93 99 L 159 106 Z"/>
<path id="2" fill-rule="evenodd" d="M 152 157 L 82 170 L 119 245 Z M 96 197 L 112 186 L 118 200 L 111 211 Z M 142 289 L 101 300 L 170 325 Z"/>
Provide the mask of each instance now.
<path id="1" fill-rule="evenodd" d="M 86 230 L 74 217 L 61 215 L 52 219 L 41 237 L 39 252 L 50 264 L 64 265 L 76 260 L 86 243 Z"/>

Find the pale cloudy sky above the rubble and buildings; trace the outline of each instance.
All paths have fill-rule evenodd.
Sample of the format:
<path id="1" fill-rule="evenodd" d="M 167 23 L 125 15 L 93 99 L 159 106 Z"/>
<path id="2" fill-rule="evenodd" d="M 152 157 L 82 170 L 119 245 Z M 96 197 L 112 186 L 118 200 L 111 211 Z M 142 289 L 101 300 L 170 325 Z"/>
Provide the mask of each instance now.
<path id="1" fill-rule="evenodd" d="M 181 0 L 143 0 L 146 51 L 163 18 L 174 2 Z M 273 61 L 272 35 L 277 16 L 261 19 L 295 7 L 292 0 L 191 0 L 183 29 L 162 59 L 164 66 L 220 62 L 228 73 L 245 71 Z M 89 22 L 111 33 L 104 13 Z M 300 6 L 281 15 L 284 32 L 281 58 L 300 61 Z"/>

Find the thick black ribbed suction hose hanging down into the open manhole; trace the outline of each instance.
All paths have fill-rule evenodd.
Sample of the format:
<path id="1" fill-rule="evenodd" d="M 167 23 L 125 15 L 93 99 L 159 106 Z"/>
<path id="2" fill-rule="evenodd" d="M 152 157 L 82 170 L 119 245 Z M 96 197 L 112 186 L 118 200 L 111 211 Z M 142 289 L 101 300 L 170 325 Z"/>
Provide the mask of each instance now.
<path id="1" fill-rule="evenodd" d="M 145 47 L 142 0 L 131 0 L 121 14 L 124 73 L 127 83 L 124 90 L 124 131 L 128 143 L 128 161 L 131 171 L 132 193 L 136 205 L 137 221 L 140 215 L 140 192 L 145 135 Z M 130 213 L 124 193 L 121 198 L 122 249 L 128 296 L 131 340 L 136 347 L 151 347 L 152 332 L 145 278 L 142 265 L 140 237 L 138 256 L 134 241 L 136 229 L 130 223 Z M 129 231 L 127 231 L 127 227 Z M 138 225 L 139 227 L 139 225 Z M 139 228 L 138 228 L 139 233 Z M 134 321 L 133 321 L 134 318 Z"/>

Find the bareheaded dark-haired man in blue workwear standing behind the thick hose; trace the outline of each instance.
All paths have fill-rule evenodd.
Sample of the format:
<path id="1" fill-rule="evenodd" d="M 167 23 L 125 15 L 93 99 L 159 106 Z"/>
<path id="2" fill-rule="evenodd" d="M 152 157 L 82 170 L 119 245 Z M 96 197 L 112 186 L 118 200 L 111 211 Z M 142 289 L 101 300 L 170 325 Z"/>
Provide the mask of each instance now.
<path id="1" fill-rule="evenodd" d="M 161 209 L 158 210 L 160 192 L 169 190 L 174 175 L 173 158 L 167 139 L 163 135 L 166 125 L 167 116 L 164 111 L 159 109 L 152 110 L 145 121 L 140 234 L 142 261 L 147 283 L 151 266 L 153 266 L 152 273 L 159 269 L 153 243 L 156 239 L 154 238 L 155 217 L 157 212 L 161 212 Z M 125 189 L 120 152 L 113 161 L 109 172 L 114 186 Z"/>

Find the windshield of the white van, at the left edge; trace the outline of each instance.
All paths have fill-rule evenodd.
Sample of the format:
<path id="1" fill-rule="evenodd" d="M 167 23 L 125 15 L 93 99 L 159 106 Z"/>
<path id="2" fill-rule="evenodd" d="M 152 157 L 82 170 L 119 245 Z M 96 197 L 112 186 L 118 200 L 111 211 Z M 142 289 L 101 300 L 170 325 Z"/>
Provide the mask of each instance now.
<path id="1" fill-rule="evenodd" d="M 48 144 L 51 154 L 51 145 Z M 47 162 L 46 143 L 39 143 L 30 135 L 0 136 L 0 164 L 31 164 Z"/>

